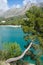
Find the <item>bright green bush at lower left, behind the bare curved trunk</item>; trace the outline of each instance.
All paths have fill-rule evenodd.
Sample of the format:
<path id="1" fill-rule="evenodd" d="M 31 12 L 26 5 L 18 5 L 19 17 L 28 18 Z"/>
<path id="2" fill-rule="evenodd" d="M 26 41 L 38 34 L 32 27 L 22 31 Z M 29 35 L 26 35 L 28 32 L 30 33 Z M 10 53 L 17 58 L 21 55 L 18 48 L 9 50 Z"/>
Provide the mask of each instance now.
<path id="1" fill-rule="evenodd" d="M 19 55 L 21 55 L 21 48 L 16 42 L 5 43 L 3 45 L 3 50 L 0 50 L 0 60 L 17 57 Z"/>

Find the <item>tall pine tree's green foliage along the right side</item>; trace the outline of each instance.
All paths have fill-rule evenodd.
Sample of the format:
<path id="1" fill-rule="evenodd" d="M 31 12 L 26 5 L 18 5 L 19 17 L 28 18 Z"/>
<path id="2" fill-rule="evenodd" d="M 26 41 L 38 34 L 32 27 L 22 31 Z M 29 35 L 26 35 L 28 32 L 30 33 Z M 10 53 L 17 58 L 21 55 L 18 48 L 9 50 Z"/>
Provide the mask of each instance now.
<path id="1" fill-rule="evenodd" d="M 28 33 L 28 35 L 25 36 L 25 40 L 28 41 L 29 38 L 31 40 L 35 40 L 36 38 L 39 40 L 39 44 L 32 45 L 32 48 L 34 48 L 36 52 L 38 51 L 36 55 L 34 55 L 34 53 L 32 53 L 32 55 L 34 55 L 36 65 L 40 65 L 40 57 L 43 55 L 43 9 L 33 6 L 26 12 L 26 16 L 28 20 L 24 20 L 25 26 L 22 27 L 24 32 Z M 32 34 L 29 35 L 29 32 Z"/>

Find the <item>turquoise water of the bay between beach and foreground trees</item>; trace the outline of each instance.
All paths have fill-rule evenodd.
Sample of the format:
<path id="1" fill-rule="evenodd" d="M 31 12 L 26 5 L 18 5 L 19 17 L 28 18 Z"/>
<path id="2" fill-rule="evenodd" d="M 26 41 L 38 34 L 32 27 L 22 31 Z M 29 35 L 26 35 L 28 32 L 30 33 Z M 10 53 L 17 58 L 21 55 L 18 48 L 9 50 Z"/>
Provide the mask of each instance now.
<path id="1" fill-rule="evenodd" d="M 2 49 L 3 43 L 17 42 L 23 52 L 25 50 L 24 45 L 27 44 L 24 40 L 25 35 L 26 34 L 24 34 L 22 28 L 0 26 L 0 49 Z M 30 40 L 28 42 L 30 42 Z M 38 41 L 35 42 L 39 43 Z M 35 63 L 35 61 L 32 61 L 30 57 L 26 57 L 25 61 Z"/>

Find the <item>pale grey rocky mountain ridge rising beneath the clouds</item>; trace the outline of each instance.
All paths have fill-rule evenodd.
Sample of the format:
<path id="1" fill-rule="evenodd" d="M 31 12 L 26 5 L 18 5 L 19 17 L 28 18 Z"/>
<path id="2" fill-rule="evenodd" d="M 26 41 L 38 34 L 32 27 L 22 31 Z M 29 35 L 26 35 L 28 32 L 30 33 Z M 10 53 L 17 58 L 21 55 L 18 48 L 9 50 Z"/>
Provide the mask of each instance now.
<path id="1" fill-rule="evenodd" d="M 8 11 L 4 12 L 4 13 L 1 15 L 1 17 L 9 18 L 9 17 L 13 17 L 13 16 L 24 15 L 25 12 L 26 12 L 32 5 L 35 5 L 35 4 L 27 3 L 25 6 L 22 6 L 21 8 L 14 8 L 14 7 L 12 7 L 12 8 L 9 9 Z"/>

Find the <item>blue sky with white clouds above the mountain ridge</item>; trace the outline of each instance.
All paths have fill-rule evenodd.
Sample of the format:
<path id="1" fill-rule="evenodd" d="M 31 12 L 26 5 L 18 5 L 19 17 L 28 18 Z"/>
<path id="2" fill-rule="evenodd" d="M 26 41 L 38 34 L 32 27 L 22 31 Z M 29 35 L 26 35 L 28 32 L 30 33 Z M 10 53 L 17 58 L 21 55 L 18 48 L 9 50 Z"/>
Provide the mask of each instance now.
<path id="1" fill-rule="evenodd" d="M 20 8 L 22 5 L 26 5 L 27 2 L 43 2 L 43 0 L 0 0 L 0 11 L 6 11 L 11 7 Z"/>

